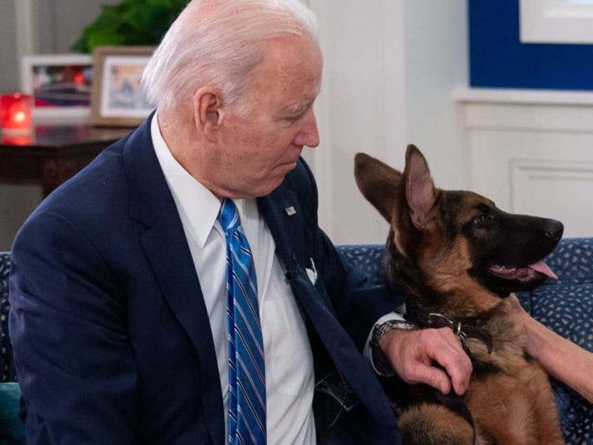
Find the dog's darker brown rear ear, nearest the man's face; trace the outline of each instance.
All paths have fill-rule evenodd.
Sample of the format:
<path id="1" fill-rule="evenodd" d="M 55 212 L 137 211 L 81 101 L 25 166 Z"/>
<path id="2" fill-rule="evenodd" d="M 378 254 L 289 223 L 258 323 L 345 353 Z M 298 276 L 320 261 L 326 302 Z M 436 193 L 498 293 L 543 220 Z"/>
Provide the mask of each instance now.
<path id="1" fill-rule="evenodd" d="M 401 173 L 366 153 L 357 153 L 354 177 L 362 195 L 391 223 Z"/>

